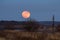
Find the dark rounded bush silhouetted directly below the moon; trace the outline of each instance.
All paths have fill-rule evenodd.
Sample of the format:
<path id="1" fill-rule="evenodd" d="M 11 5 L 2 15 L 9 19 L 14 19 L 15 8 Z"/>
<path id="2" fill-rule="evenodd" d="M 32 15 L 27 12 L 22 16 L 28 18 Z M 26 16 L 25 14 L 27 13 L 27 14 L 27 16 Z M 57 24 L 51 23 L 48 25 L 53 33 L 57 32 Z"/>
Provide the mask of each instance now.
<path id="1" fill-rule="evenodd" d="M 36 31 L 40 24 L 37 21 L 29 20 L 25 22 L 24 29 L 26 31 Z"/>

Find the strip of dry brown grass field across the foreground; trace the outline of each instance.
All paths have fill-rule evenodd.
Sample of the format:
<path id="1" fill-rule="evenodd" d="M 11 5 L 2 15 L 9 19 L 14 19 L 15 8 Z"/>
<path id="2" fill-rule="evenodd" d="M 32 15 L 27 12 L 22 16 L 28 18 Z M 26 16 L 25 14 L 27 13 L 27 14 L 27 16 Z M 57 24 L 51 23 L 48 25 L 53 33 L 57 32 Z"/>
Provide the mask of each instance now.
<path id="1" fill-rule="evenodd" d="M 3 30 L 0 31 L 0 40 L 60 40 L 60 33 Z"/>

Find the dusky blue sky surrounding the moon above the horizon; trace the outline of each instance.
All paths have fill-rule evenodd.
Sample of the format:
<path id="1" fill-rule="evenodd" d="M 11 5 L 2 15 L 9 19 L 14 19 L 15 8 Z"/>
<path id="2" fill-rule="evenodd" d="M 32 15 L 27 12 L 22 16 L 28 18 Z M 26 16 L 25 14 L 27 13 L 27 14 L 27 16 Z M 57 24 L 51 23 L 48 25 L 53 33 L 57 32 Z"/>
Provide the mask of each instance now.
<path id="1" fill-rule="evenodd" d="M 21 16 L 24 10 L 38 21 L 51 21 L 53 14 L 60 21 L 60 0 L 0 0 L 0 20 L 25 20 Z"/>

